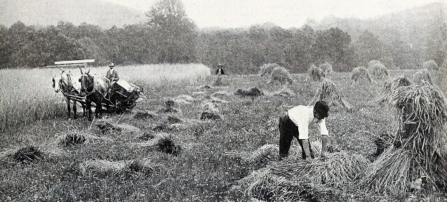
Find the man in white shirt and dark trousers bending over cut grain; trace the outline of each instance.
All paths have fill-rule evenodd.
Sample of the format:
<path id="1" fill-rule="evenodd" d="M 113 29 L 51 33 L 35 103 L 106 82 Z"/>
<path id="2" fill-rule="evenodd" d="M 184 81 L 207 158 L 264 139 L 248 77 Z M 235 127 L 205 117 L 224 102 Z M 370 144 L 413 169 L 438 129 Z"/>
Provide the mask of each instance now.
<path id="1" fill-rule="evenodd" d="M 325 101 L 317 101 L 315 106 L 295 106 L 279 118 L 279 157 L 288 155 L 293 137 L 298 139 L 302 150 L 302 158 L 312 162 L 313 153 L 309 143 L 309 125 L 317 124 L 321 134 L 321 157 L 326 157 L 329 131 L 325 117 L 328 117 L 329 106 Z"/>

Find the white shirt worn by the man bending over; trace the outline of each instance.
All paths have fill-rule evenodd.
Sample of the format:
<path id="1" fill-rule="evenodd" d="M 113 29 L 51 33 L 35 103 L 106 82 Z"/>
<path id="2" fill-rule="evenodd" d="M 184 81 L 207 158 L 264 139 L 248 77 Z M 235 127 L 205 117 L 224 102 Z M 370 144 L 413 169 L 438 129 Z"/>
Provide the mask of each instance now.
<path id="1" fill-rule="evenodd" d="M 287 111 L 288 117 L 298 126 L 298 139 L 309 139 L 309 125 L 316 123 L 322 136 L 329 136 L 326 120 L 314 117 L 313 106 L 295 106 Z"/>

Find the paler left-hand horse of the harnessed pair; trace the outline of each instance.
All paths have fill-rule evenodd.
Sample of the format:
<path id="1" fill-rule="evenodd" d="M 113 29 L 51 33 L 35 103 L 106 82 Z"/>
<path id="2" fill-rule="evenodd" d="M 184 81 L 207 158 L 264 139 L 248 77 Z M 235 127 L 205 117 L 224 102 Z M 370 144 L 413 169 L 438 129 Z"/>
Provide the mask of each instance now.
<path id="1" fill-rule="evenodd" d="M 70 103 L 73 101 L 73 118 L 77 118 L 78 115 L 76 115 L 76 101 L 73 99 L 70 99 L 70 97 L 66 95 L 73 95 L 73 96 L 79 96 L 80 95 L 80 89 L 79 85 L 73 80 L 73 75 L 71 75 L 70 72 L 66 73 L 65 71 L 61 70 L 61 75 L 56 75 L 52 79 L 53 82 L 53 88 L 54 92 L 62 92 L 65 96 L 65 101 L 67 103 L 67 110 L 68 110 L 68 119 L 70 118 Z M 85 116 L 85 104 L 82 105 L 83 115 Z"/>

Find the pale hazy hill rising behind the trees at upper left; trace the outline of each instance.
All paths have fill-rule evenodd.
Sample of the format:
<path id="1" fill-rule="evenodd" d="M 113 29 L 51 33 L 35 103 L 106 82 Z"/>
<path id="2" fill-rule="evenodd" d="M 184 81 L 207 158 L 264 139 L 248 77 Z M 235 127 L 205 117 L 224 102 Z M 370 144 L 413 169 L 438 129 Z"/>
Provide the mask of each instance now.
<path id="1" fill-rule="evenodd" d="M 10 27 L 17 21 L 44 26 L 87 22 L 108 29 L 144 22 L 145 14 L 100 0 L 0 0 L 0 24 Z"/>

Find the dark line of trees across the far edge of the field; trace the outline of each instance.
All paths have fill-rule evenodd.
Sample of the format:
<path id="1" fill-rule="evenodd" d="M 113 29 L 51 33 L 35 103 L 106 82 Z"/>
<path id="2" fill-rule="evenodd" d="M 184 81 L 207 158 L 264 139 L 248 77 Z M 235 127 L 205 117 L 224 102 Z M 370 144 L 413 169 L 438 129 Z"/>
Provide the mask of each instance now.
<path id="1" fill-rule="evenodd" d="M 96 59 L 94 65 L 221 63 L 230 73 L 256 73 L 265 63 L 291 72 L 312 64 L 351 71 L 378 59 L 386 66 L 406 62 L 393 47 L 365 31 L 353 40 L 337 27 L 314 30 L 256 25 L 247 29 L 200 30 L 179 0 L 160 0 L 147 12 L 147 23 L 101 29 L 92 24 L 59 22 L 47 27 L 16 22 L 0 26 L 0 68 L 35 68 L 55 61 Z"/>

